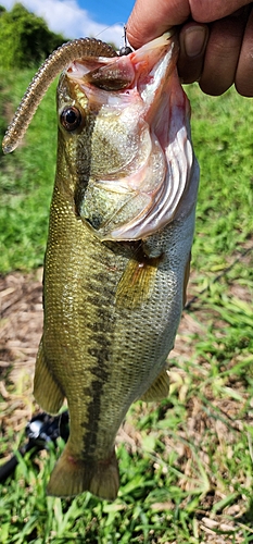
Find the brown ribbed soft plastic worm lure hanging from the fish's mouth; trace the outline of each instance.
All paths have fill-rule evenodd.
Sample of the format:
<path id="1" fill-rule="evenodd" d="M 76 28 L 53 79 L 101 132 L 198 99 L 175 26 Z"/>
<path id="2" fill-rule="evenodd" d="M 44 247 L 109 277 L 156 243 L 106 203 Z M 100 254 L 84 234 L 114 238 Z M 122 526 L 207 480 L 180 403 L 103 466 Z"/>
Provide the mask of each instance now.
<path id="1" fill-rule="evenodd" d="M 64 44 L 45 61 L 28 86 L 3 138 L 2 149 L 10 153 L 17 146 L 49 86 L 71 62 L 84 57 L 117 57 L 112 46 L 94 38 L 79 38 Z"/>

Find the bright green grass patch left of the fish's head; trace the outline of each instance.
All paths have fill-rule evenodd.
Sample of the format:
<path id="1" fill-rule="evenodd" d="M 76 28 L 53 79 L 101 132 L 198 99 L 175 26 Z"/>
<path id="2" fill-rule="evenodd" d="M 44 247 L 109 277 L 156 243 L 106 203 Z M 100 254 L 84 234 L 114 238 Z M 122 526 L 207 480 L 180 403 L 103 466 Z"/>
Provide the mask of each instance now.
<path id="1" fill-rule="evenodd" d="M 0 74 L 0 136 L 33 71 Z M 4 87 L 3 87 L 4 82 Z M 2 86 L 2 89 L 1 89 Z M 0 271 L 30 270 L 43 262 L 56 156 L 55 84 L 39 107 L 23 145 L 0 154 Z M 9 119 L 10 121 L 10 119 Z"/>

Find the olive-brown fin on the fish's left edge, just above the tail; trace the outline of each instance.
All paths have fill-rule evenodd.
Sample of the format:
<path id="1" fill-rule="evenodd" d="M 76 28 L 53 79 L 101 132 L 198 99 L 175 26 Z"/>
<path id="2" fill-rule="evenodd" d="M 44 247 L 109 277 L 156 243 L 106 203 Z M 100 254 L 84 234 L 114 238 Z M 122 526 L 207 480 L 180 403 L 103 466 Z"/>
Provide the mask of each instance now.
<path id="1" fill-rule="evenodd" d="M 41 408 L 49 413 L 58 413 L 64 400 L 64 394 L 48 368 L 42 341 L 35 367 L 34 396 Z"/>

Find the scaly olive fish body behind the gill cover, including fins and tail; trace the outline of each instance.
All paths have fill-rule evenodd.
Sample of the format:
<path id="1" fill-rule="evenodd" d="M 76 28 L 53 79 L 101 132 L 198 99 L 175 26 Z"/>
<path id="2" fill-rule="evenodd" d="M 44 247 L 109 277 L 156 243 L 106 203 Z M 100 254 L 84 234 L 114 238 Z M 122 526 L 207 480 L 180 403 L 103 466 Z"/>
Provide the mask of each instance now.
<path id="1" fill-rule="evenodd" d="M 51 475 L 50 494 L 89 490 L 115 498 L 115 435 L 131 403 L 147 392 L 143 398 L 157 398 L 155 382 L 166 382 L 193 224 L 191 211 L 148 238 L 147 265 L 129 257 L 125 246 L 121 250 L 116 243 L 98 240 L 54 189 L 35 397 L 51 413 L 66 397 L 71 429 Z"/>

